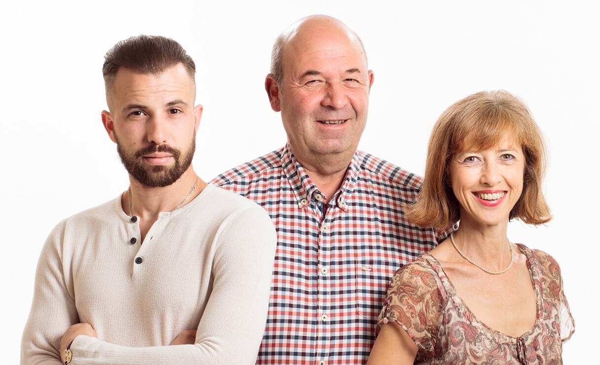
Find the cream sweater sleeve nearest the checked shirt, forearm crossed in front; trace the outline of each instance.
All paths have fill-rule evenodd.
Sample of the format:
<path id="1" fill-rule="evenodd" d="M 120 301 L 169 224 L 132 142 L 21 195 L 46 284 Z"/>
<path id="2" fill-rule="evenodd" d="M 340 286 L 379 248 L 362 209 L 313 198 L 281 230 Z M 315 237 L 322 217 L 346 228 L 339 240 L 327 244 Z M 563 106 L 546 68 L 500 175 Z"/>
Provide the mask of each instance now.
<path id="1" fill-rule="evenodd" d="M 212 292 L 194 345 L 131 348 L 78 336 L 71 344 L 71 363 L 254 364 L 265 330 L 276 245 L 274 226 L 262 208 L 235 211 L 213 241 Z"/>

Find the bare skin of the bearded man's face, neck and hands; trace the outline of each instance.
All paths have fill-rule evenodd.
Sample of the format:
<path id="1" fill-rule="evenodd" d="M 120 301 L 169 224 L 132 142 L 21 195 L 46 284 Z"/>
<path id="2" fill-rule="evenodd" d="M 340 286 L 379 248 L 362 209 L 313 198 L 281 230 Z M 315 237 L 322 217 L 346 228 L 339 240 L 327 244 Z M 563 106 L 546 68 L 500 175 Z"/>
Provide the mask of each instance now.
<path id="1" fill-rule="evenodd" d="M 107 98 L 110 112 L 101 113 L 102 123 L 110 140 L 117 143 L 118 136 L 122 154 L 134 158 L 135 163 L 147 169 L 150 179 L 158 181 L 166 170 L 175 166 L 175 158 L 168 149 L 181 151 L 182 155 L 190 152 L 202 117 L 202 105 L 194 106 L 195 98 L 194 80 L 181 64 L 161 74 L 138 74 L 121 68 Z M 164 146 L 168 146 L 166 152 L 134 157 L 137 151 L 155 151 Z M 156 166 L 162 167 L 157 169 Z M 129 175 L 132 211 L 140 220 L 142 242 L 158 213 L 173 210 L 188 194 L 196 177 L 191 164 L 174 183 L 164 187 L 146 186 Z M 198 178 L 196 190 L 187 202 L 196 198 L 204 187 L 206 183 Z M 127 192 L 122 196 L 121 205 L 123 211 L 130 214 Z M 87 323 L 71 325 L 62 336 L 61 354 L 80 334 L 97 337 Z M 172 345 L 194 343 L 195 337 L 195 330 L 185 330 Z"/>

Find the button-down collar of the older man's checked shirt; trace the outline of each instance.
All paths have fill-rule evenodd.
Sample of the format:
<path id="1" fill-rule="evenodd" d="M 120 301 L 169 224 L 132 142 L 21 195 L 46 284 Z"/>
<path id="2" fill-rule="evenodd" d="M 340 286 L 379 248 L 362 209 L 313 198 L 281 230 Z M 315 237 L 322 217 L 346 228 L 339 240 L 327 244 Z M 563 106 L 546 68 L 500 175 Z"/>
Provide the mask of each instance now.
<path id="1" fill-rule="evenodd" d="M 347 201 L 355 189 L 356 178 L 361 164 L 362 154 L 357 151 L 353 155 L 352 160 L 350 160 L 344 182 L 334 195 L 335 199 L 331 199 L 332 197 L 329 196 L 326 197 L 331 199 L 331 205 L 338 205 L 341 210 L 346 211 Z M 296 157 L 290 150 L 289 143 L 283 148 L 283 153 L 281 154 L 281 166 L 283 166 L 283 173 L 286 175 L 287 181 L 289 181 L 289 184 L 292 187 L 292 191 L 298 202 L 298 207 L 304 208 L 310 204 L 311 200 L 317 201 L 317 195 L 323 195 L 319 189 L 317 189 L 317 186 L 313 183 L 310 176 L 308 176 L 304 166 L 296 160 Z"/>

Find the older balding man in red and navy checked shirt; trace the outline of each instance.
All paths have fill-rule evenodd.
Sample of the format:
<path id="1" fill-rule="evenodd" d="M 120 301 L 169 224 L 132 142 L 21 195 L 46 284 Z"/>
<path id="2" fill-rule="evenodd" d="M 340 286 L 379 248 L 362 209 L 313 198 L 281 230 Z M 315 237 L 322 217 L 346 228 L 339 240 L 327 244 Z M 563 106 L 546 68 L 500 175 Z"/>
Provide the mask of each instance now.
<path id="1" fill-rule="evenodd" d="M 212 183 L 278 234 L 259 364 L 362 364 L 392 274 L 442 237 L 407 222 L 421 178 L 357 151 L 373 72 L 359 37 L 311 16 L 275 41 L 265 88 L 287 144 Z"/>

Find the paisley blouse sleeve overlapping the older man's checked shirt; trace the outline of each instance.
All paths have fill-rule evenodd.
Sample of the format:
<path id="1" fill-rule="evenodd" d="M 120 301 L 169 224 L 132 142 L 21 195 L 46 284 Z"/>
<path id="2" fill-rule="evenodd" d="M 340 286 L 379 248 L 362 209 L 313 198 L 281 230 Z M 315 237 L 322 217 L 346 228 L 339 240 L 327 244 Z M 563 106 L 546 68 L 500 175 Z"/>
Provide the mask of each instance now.
<path id="1" fill-rule="evenodd" d="M 422 259 L 398 270 L 389 285 L 377 325 L 400 325 L 418 347 L 416 361 L 437 355 L 443 292 L 439 277 Z"/>

